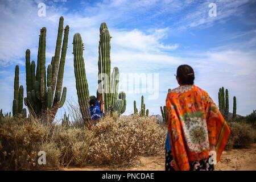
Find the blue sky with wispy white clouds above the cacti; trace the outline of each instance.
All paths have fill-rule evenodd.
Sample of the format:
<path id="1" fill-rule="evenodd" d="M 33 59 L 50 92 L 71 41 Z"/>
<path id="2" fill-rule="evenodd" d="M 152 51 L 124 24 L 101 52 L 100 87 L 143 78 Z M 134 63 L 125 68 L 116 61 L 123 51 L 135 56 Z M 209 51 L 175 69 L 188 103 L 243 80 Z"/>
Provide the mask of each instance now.
<path id="1" fill-rule="evenodd" d="M 46 4 L 46 16 L 38 16 L 38 3 Z M 217 16 L 210 17 L 209 3 Z M 20 67 L 24 87 L 24 55 L 31 50 L 36 61 L 38 35 L 47 27 L 47 64 L 54 55 L 59 17 L 68 24 L 69 43 L 64 82 L 67 100 L 77 101 L 73 70 L 72 39 L 80 32 L 90 94 L 97 88 L 99 27 L 106 22 L 112 35 L 112 68 L 121 73 L 159 74 L 159 97 L 148 99 L 150 114 L 159 114 L 168 88 L 175 88 L 174 74 L 180 64 L 191 65 L 195 84 L 207 90 L 217 103 L 218 88 L 229 89 L 230 111 L 237 97 L 237 113 L 256 109 L 256 1 L 1 1 L 0 2 L 0 107 L 11 111 L 14 68 Z M 127 93 L 126 114 L 142 93 Z M 139 106 L 137 106 L 139 107 Z M 58 111 L 57 118 L 64 113 Z"/>

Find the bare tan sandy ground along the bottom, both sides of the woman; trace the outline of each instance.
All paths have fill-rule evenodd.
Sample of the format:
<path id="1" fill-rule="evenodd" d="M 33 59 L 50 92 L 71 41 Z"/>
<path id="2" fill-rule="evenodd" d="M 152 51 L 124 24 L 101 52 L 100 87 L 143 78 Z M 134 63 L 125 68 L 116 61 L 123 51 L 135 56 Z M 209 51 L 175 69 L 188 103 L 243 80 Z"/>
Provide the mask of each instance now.
<path id="1" fill-rule="evenodd" d="M 215 166 L 218 171 L 243 171 L 243 170 L 253 170 L 256 171 L 256 143 L 247 149 L 233 149 L 230 151 L 224 151 L 221 156 L 220 162 Z M 62 168 L 64 171 L 94 171 L 94 170 L 148 170 L 148 171 L 161 171 L 164 170 L 164 155 L 161 156 L 151 156 L 151 157 L 139 157 L 134 161 L 133 165 L 130 167 L 97 167 L 97 166 L 85 166 L 82 168 L 68 167 Z"/>

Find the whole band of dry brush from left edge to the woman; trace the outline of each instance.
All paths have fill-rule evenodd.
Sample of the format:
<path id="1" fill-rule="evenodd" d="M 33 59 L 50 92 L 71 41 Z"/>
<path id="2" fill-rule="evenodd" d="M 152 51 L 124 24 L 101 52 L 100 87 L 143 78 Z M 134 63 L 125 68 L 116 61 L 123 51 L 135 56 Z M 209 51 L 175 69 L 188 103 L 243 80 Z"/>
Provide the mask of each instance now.
<path id="1" fill-rule="evenodd" d="M 37 119 L 1 118 L 0 169 L 42 169 L 86 164 L 127 164 L 136 156 L 163 154 L 166 128 L 155 119 L 107 115 L 85 127 L 42 124 Z M 46 165 L 38 152 L 46 152 Z"/>

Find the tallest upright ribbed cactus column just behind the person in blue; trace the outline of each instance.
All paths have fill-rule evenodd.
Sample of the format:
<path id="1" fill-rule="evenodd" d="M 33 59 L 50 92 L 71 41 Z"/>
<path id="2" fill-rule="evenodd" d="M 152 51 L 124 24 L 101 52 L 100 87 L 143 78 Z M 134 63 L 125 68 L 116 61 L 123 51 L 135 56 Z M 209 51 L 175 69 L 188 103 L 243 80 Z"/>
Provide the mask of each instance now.
<path id="1" fill-rule="evenodd" d="M 111 106 L 111 90 L 110 90 L 110 72 L 111 72 L 111 60 L 110 60 L 110 34 L 106 23 L 101 23 L 100 26 L 100 42 L 98 46 L 98 84 L 102 87 L 101 74 L 105 77 L 104 81 L 104 108 L 108 110 Z"/>

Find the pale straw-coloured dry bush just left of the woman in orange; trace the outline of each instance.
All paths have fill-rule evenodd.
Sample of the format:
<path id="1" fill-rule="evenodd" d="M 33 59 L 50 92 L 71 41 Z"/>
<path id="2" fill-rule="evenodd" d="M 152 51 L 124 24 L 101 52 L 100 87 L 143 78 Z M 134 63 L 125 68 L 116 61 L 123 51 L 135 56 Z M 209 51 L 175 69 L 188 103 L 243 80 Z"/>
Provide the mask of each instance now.
<path id="1" fill-rule="evenodd" d="M 138 155 L 163 154 L 166 130 L 155 119 L 106 116 L 92 130 L 90 163 L 120 164 Z"/>

